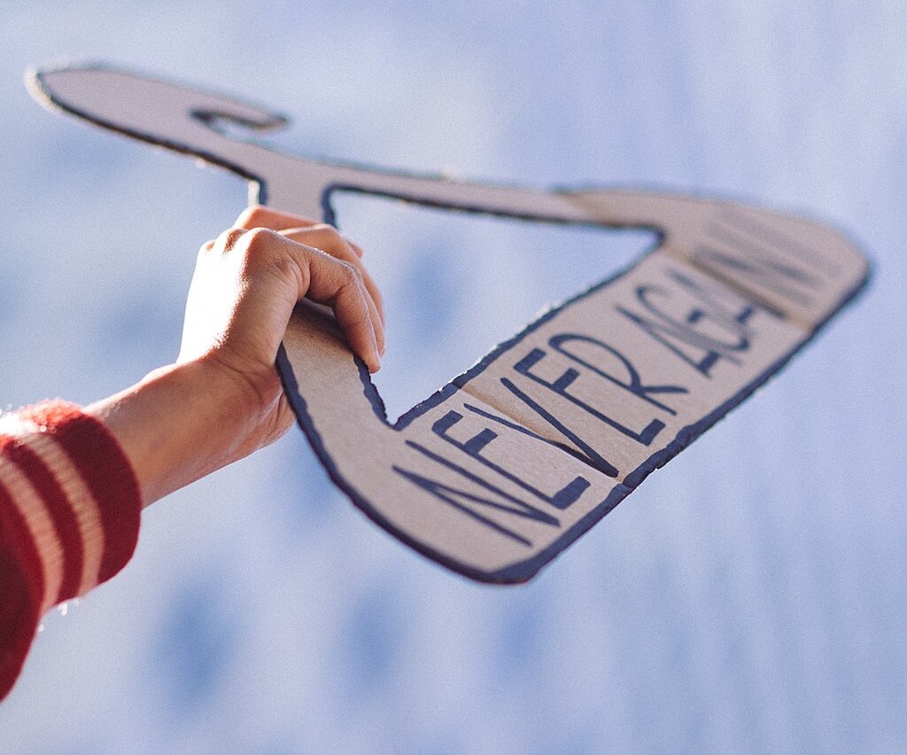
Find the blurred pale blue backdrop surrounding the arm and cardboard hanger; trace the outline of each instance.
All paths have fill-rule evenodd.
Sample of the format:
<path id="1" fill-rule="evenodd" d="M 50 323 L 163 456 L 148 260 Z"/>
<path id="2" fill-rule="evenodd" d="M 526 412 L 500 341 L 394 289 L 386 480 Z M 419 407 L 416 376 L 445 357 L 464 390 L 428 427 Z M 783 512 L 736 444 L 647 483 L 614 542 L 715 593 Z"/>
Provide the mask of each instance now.
<path id="1" fill-rule="evenodd" d="M 339 495 L 296 430 L 145 513 L 50 614 L 4 753 L 907 750 L 907 5 L 52 2 L 0 25 L 0 408 L 175 358 L 199 245 L 246 185 L 46 113 L 29 65 L 106 61 L 274 106 L 276 148 L 803 211 L 870 289 L 536 581 L 469 583 Z M 358 195 L 401 413 L 641 232 Z"/>

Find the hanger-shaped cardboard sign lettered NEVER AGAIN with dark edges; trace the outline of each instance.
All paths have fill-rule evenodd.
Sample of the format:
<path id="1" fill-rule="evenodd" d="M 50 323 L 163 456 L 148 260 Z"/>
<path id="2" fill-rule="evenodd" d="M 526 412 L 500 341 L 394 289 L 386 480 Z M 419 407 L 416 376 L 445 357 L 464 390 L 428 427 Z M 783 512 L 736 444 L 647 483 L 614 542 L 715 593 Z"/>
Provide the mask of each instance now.
<path id="1" fill-rule="evenodd" d="M 782 368 L 867 279 L 866 260 L 834 230 L 735 202 L 316 162 L 229 137 L 225 123 L 285 120 L 218 95 L 100 67 L 40 71 L 32 84 L 68 113 L 239 173 L 252 201 L 327 221 L 334 192 L 359 191 L 658 231 L 658 248 L 632 268 L 551 309 L 394 425 L 333 319 L 297 307 L 278 369 L 331 478 L 385 530 L 485 582 L 530 579 Z"/>

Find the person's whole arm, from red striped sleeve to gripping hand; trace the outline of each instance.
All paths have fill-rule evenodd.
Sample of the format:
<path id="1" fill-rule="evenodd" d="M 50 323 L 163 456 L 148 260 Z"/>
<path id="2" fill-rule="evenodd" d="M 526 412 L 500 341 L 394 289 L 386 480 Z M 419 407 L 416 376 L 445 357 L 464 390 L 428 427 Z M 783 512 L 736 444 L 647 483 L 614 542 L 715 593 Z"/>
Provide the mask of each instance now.
<path id="1" fill-rule="evenodd" d="M 328 226 L 250 208 L 199 252 L 178 364 L 84 410 L 0 417 L 0 699 L 41 614 L 129 560 L 142 506 L 288 430 L 274 362 L 300 299 L 334 309 L 378 368 L 384 317 L 361 253 Z"/>

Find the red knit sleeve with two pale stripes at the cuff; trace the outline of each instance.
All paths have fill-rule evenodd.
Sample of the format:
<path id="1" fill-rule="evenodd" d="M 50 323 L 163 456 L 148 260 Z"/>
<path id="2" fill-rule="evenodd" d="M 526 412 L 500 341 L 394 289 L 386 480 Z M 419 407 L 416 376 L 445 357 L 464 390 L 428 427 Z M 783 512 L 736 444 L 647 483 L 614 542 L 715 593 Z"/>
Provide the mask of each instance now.
<path id="1" fill-rule="evenodd" d="M 52 401 L 0 417 L 0 700 L 41 616 L 129 561 L 141 493 L 103 424 Z"/>

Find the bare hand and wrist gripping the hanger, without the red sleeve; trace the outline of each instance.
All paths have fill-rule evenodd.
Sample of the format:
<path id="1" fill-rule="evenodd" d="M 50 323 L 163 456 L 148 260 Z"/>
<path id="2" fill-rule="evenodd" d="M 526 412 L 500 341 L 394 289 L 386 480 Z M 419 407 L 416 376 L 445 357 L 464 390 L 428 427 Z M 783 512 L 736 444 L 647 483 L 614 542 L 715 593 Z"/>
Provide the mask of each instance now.
<path id="1" fill-rule="evenodd" d="M 361 258 L 331 226 L 266 207 L 201 247 L 176 365 L 89 407 L 130 456 L 145 505 L 291 427 L 275 360 L 300 299 L 331 307 L 377 371 L 384 311 Z"/>

